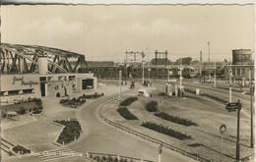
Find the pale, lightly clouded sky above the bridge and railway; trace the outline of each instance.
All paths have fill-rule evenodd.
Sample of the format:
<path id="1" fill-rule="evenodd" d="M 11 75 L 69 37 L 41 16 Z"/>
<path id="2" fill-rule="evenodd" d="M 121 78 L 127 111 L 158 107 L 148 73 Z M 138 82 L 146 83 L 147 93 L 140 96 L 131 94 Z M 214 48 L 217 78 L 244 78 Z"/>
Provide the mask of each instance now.
<path id="1" fill-rule="evenodd" d="M 20 5 L 1 6 L 1 41 L 43 45 L 123 61 L 126 51 L 155 50 L 168 58 L 230 60 L 231 50 L 254 50 L 252 5 Z"/>

